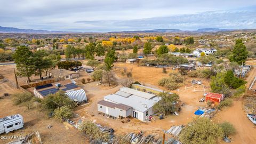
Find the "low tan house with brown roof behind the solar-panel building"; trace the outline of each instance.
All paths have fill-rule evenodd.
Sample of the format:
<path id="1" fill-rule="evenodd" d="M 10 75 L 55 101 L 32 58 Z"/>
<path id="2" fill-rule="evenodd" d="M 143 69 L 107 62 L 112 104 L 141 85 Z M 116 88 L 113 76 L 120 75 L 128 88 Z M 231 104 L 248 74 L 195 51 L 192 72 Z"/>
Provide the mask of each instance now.
<path id="1" fill-rule="evenodd" d="M 52 69 L 47 73 L 47 76 L 60 79 L 73 79 L 78 78 L 79 74 L 67 69 Z"/>

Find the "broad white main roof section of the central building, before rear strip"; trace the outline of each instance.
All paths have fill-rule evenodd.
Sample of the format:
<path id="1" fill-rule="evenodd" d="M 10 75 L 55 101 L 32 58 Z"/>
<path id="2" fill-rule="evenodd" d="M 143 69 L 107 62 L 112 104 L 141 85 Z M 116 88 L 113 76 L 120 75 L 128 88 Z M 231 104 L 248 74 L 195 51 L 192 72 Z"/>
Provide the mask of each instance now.
<path id="1" fill-rule="evenodd" d="M 108 100 L 119 104 L 122 103 L 141 112 L 147 111 L 149 108 L 153 107 L 155 103 L 157 103 L 157 101 L 155 100 L 139 97 L 137 95 L 131 95 L 130 97 L 125 98 L 121 95 L 109 94 L 104 97 L 104 100 Z"/>

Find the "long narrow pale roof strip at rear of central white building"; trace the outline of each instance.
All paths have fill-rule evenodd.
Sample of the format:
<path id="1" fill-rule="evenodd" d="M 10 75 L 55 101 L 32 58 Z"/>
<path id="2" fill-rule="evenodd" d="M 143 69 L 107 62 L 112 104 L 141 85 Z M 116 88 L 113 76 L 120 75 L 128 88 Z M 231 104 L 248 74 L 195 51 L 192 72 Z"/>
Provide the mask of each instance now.
<path id="1" fill-rule="evenodd" d="M 130 94 L 133 94 L 133 95 L 137 95 L 138 97 L 146 98 L 146 99 L 151 99 L 151 98 L 154 98 L 156 96 L 155 94 L 150 94 L 150 93 L 146 93 L 146 92 L 137 91 L 137 90 L 134 90 L 134 89 L 130 89 L 128 87 L 122 87 L 122 88 L 119 89 L 119 91 L 130 93 Z"/>

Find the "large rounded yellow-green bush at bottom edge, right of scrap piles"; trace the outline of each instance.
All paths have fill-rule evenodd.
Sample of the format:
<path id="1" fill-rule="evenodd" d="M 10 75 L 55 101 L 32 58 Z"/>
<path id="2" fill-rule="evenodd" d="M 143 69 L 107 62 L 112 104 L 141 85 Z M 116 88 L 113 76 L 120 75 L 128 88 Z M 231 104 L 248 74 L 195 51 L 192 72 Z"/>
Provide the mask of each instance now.
<path id="1" fill-rule="evenodd" d="M 182 143 L 214 144 L 223 137 L 223 131 L 209 118 L 197 117 L 193 122 L 185 126 L 180 135 Z"/>

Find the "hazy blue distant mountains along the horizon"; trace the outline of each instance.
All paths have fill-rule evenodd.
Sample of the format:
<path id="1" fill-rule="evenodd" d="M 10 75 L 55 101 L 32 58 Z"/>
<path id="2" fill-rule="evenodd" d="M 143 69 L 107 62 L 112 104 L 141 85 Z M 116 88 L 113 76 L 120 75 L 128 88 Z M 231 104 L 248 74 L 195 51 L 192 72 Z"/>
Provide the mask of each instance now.
<path id="1" fill-rule="evenodd" d="M 197 30 L 180 30 L 180 29 L 151 29 L 151 30 L 133 30 L 133 31 L 111 31 L 109 33 L 214 33 L 218 31 L 233 31 L 235 29 L 219 29 L 219 28 L 201 28 Z M 49 31 L 34 29 L 19 29 L 11 27 L 1 27 L 0 33 L 27 33 L 27 34 L 59 34 L 59 33 L 82 33 L 74 31 Z"/>

